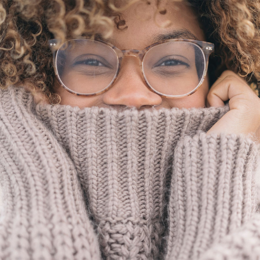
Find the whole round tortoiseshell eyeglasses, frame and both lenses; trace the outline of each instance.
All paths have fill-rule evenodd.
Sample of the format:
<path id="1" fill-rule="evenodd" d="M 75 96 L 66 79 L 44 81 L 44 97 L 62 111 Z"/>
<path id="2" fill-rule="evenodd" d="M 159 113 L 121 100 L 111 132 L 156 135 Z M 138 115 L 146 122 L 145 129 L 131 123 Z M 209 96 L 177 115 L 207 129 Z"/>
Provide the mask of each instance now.
<path id="1" fill-rule="evenodd" d="M 120 50 L 101 40 L 68 40 L 55 49 L 50 40 L 55 74 L 61 85 L 79 96 L 94 96 L 108 90 L 116 81 L 122 59 L 139 61 L 147 87 L 166 98 L 190 96 L 203 83 L 214 44 L 187 39 L 154 43 L 145 49 Z"/>

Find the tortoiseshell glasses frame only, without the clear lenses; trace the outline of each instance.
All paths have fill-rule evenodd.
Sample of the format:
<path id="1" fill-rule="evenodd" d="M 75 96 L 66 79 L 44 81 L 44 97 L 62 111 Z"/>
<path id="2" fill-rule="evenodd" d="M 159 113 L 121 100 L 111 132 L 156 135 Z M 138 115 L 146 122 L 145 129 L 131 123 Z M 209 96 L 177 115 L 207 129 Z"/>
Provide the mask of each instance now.
<path id="1" fill-rule="evenodd" d="M 146 83 L 146 86 L 153 92 L 155 92 L 156 94 L 166 97 L 166 98 L 182 98 L 185 96 L 190 96 L 192 94 L 194 94 L 202 85 L 206 74 L 207 74 L 207 68 L 208 68 L 208 63 L 209 63 L 209 55 L 214 51 L 214 44 L 211 42 L 204 42 L 204 41 L 198 41 L 198 40 L 190 40 L 190 39 L 170 39 L 170 40 L 163 40 L 160 42 L 156 42 L 154 44 L 149 45 L 148 47 L 144 48 L 143 50 L 135 50 L 135 49 L 127 49 L 127 50 L 120 50 L 117 47 L 115 47 L 114 45 L 110 44 L 109 42 L 105 42 L 102 40 L 90 40 L 90 39 L 86 39 L 86 38 L 77 38 L 77 39 L 73 39 L 73 40 L 68 40 L 65 43 L 69 43 L 70 41 L 75 41 L 75 40 L 86 40 L 86 41 L 92 41 L 92 42 L 101 42 L 105 45 L 107 45 L 109 48 L 111 48 L 112 51 L 114 51 L 114 53 L 117 56 L 117 68 L 116 68 L 116 73 L 114 75 L 114 78 L 112 79 L 112 81 L 109 83 L 109 85 L 107 87 L 105 87 L 104 89 L 102 89 L 101 91 L 95 92 L 95 93 L 90 93 L 90 94 L 85 94 L 85 93 L 79 93 L 79 92 L 75 92 L 73 90 L 70 90 L 67 86 L 64 85 L 64 83 L 62 82 L 62 80 L 60 79 L 58 70 L 57 70 L 57 53 L 60 50 L 61 46 L 63 46 L 63 44 L 60 44 L 60 47 L 57 48 L 57 40 L 52 39 L 49 40 L 49 47 L 51 48 L 51 51 L 53 53 L 53 65 L 54 65 L 54 71 L 55 71 L 55 75 L 58 79 L 58 81 L 60 82 L 60 84 L 62 85 L 63 88 L 65 88 L 65 90 L 67 90 L 68 92 L 70 92 L 71 94 L 75 94 L 78 96 L 95 96 L 98 94 L 101 94 L 103 92 L 105 92 L 106 90 L 108 90 L 109 88 L 111 88 L 113 86 L 113 83 L 116 81 L 117 77 L 118 77 L 118 73 L 120 71 L 120 66 L 122 63 L 122 59 L 125 56 L 134 56 L 138 59 L 139 61 L 139 66 L 140 66 L 140 70 L 142 72 L 142 77 L 144 82 Z M 146 53 L 153 48 L 154 46 L 157 46 L 159 44 L 163 44 L 165 42 L 191 42 L 192 44 L 194 44 L 195 46 L 197 46 L 201 52 L 203 53 L 203 59 L 204 59 L 204 71 L 203 71 L 203 76 L 200 79 L 198 85 L 196 86 L 196 88 L 194 88 L 192 91 L 188 92 L 187 94 L 182 94 L 182 95 L 166 95 L 164 93 L 161 93 L 157 90 L 155 90 L 153 88 L 153 86 L 150 85 L 150 83 L 148 82 L 148 80 L 146 79 L 146 76 L 144 74 L 144 57 L 146 55 Z"/>

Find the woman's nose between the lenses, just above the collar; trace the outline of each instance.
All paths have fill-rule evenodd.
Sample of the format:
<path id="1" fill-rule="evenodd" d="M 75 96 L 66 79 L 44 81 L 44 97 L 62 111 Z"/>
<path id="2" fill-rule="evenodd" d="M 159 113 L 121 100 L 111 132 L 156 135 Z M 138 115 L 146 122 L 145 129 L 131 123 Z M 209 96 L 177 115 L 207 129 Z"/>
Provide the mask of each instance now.
<path id="1" fill-rule="evenodd" d="M 118 78 L 104 93 L 103 102 L 107 105 L 125 105 L 140 109 L 142 106 L 160 105 L 162 99 L 146 86 L 138 59 L 127 56 L 122 60 Z"/>

